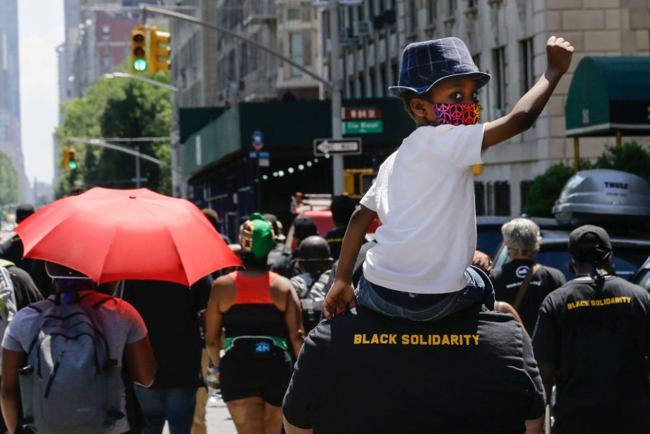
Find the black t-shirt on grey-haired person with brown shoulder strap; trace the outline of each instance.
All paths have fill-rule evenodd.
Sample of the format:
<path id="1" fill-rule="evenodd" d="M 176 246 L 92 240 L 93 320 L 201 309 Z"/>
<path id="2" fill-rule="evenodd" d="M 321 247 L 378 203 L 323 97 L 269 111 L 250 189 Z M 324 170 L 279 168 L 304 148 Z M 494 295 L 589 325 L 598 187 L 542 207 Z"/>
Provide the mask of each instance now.
<path id="1" fill-rule="evenodd" d="M 502 268 L 495 268 L 490 271 L 495 298 L 498 301 L 513 304 L 516 294 L 519 292 L 519 287 L 521 287 L 528 270 L 531 269 L 533 264 L 533 261 L 528 259 L 514 259 L 503 265 Z M 517 309 L 517 313 L 519 313 L 521 321 L 524 322 L 524 327 L 526 327 L 528 333 L 533 333 L 540 305 L 544 298 L 565 282 L 564 273 L 556 268 L 542 265 L 538 272 L 535 273 L 531 284 L 528 285 L 526 290 L 526 296 L 524 296 L 521 306 Z"/>

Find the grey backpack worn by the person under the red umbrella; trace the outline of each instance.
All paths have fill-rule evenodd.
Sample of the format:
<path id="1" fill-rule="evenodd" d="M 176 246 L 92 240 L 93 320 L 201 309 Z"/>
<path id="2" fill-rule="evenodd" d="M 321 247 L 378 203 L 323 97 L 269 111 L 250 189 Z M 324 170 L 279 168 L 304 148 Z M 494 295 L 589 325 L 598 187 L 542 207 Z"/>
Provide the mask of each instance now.
<path id="1" fill-rule="evenodd" d="M 111 358 L 98 308 L 115 299 L 98 293 L 57 294 L 27 308 L 39 317 L 20 369 L 23 426 L 37 433 L 108 433 L 120 411 L 122 379 Z"/>

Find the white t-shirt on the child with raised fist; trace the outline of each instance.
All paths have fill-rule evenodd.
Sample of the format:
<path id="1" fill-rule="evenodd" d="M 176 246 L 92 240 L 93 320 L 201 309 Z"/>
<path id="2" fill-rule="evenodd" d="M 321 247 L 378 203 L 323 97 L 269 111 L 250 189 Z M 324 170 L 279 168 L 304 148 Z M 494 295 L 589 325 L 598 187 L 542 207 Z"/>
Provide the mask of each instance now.
<path id="1" fill-rule="evenodd" d="M 379 168 L 361 204 L 377 212 L 363 276 L 397 291 L 462 289 L 476 249 L 474 173 L 486 124 L 421 126 Z"/>

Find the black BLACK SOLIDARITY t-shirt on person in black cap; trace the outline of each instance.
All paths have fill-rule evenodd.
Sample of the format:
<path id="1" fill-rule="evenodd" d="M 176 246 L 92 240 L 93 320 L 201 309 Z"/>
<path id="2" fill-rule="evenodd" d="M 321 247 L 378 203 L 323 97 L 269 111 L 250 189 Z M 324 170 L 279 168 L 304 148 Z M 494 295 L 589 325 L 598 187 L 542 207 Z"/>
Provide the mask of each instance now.
<path id="1" fill-rule="evenodd" d="M 533 346 L 557 368 L 554 433 L 650 433 L 650 295 L 620 277 L 571 280 L 540 308 Z"/>

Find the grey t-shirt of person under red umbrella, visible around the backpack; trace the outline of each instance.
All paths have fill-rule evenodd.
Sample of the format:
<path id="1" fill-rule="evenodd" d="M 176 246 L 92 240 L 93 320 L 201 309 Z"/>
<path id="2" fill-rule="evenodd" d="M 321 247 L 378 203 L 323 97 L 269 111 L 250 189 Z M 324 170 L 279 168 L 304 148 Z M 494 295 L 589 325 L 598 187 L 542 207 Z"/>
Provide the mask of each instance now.
<path id="1" fill-rule="evenodd" d="M 90 291 L 79 291 L 79 296 L 84 296 Z M 49 297 L 50 300 L 54 296 Z M 84 303 L 82 301 L 82 303 Z M 34 303 L 40 308 L 51 307 L 50 301 L 39 301 Z M 120 298 L 114 298 L 114 301 L 108 301 L 97 309 L 98 314 L 104 324 L 104 333 L 110 356 L 117 360 L 119 367 L 122 367 L 122 356 L 124 355 L 124 346 L 128 343 L 136 343 L 147 336 L 147 327 L 137 310 L 126 301 Z M 2 340 L 2 348 L 7 350 L 27 353 L 30 349 L 30 338 L 33 334 L 33 327 L 39 318 L 39 313 L 30 308 L 18 310 L 13 320 L 9 323 L 7 331 Z M 122 386 L 122 396 L 120 397 L 120 407 L 122 413 L 126 415 L 126 391 Z M 119 419 L 115 426 L 109 431 L 109 434 L 121 434 L 129 431 L 129 421 L 126 416 Z"/>

